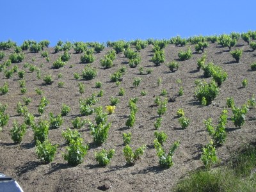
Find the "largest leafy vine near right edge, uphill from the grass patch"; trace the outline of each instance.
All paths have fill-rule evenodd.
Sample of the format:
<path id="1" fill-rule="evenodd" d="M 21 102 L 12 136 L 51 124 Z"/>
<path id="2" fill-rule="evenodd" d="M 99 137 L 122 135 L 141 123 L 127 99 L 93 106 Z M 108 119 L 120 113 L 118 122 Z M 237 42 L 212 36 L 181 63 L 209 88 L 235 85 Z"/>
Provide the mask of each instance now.
<path id="1" fill-rule="evenodd" d="M 232 108 L 233 116 L 231 117 L 236 127 L 241 128 L 245 122 L 245 115 L 248 112 L 248 107 L 244 104 L 242 108 Z"/>

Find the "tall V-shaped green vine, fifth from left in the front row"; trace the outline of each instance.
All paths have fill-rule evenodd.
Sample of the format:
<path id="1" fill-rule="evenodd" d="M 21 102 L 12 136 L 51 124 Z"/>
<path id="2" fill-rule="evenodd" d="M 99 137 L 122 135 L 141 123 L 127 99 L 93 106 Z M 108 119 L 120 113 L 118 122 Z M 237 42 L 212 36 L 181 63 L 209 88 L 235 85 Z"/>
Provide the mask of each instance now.
<path id="1" fill-rule="evenodd" d="M 159 164 L 163 168 L 170 168 L 173 166 L 173 154 L 175 150 L 179 147 L 180 141 L 175 141 L 170 148 L 169 152 L 166 154 L 164 151 L 161 143 L 159 143 L 157 140 L 154 140 L 154 147 L 156 148 L 157 151 L 157 156 L 159 158 Z"/>

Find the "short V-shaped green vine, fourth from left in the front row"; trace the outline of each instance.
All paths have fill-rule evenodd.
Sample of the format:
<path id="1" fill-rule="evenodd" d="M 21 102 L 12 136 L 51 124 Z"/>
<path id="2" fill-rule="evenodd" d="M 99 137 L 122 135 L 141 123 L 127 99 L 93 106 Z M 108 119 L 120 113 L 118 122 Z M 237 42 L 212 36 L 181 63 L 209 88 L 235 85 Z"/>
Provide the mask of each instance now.
<path id="1" fill-rule="evenodd" d="M 126 145 L 124 147 L 124 156 L 126 163 L 130 166 L 134 165 L 138 159 L 140 159 L 141 156 L 144 154 L 145 146 L 141 146 L 135 150 L 135 152 L 132 152 L 132 148 L 129 145 Z"/>

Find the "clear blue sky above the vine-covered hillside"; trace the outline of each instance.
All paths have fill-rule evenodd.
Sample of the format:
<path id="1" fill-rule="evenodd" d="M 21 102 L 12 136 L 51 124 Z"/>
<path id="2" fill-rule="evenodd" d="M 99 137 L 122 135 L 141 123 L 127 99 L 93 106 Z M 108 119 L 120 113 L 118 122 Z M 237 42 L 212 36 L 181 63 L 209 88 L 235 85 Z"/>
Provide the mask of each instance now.
<path id="1" fill-rule="evenodd" d="M 3 0 L 0 42 L 107 42 L 256 30 L 256 1 Z"/>

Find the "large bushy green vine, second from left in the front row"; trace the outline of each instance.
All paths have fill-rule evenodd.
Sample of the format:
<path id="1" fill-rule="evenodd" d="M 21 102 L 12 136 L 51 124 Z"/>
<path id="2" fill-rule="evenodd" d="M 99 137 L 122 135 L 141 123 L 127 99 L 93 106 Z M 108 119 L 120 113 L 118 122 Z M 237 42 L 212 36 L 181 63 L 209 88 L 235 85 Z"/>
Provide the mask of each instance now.
<path id="1" fill-rule="evenodd" d="M 88 145 L 83 145 L 83 141 L 71 140 L 67 147 L 67 153 L 63 154 L 64 160 L 73 166 L 83 163 L 83 158 L 87 154 L 88 149 Z"/>

